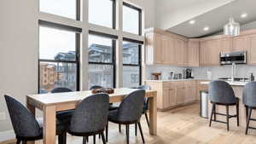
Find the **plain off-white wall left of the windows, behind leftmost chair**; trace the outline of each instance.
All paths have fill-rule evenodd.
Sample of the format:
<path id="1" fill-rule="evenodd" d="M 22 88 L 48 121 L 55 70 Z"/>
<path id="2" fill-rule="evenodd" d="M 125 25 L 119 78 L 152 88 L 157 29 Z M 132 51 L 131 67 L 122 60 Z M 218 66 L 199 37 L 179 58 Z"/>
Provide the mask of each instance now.
<path id="1" fill-rule="evenodd" d="M 25 103 L 38 90 L 37 3 L 31 0 L 0 1 L 0 131 L 11 130 L 4 94 Z M 1 140 L 0 140 L 1 141 Z"/>

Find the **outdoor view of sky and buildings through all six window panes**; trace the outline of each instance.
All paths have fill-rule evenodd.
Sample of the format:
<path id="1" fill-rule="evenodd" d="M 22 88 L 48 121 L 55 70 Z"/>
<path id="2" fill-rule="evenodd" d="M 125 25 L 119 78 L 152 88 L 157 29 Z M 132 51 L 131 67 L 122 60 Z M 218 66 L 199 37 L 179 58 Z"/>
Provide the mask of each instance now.
<path id="1" fill-rule="evenodd" d="M 78 12 L 77 2 L 79 1 L 64 0 L 59 4 L 40 0 L 40 11 L 75 20 Z M 115 28 L 115 0 L 88 0 L 88 3 L 89 23 Z M 140 14 L 140 9 L 124 3 L 123 31 L 140 34 Z M 59 27 L 39 26 L 39 89 L 41 93 L 49 92 L 56 87 L 78 90 L 79 61 L 76 60 L 78 54 L 76 38 L 76 32 L 61 30 Z M 114 88 L 115 38 L 95 34 L 90 34 L 88 38 L 88 88 L 93 85 Z M 136 87 L 141 83 L 140 49 L 141 46 L 137 43 L 123 42 L 124 87 Z"/>

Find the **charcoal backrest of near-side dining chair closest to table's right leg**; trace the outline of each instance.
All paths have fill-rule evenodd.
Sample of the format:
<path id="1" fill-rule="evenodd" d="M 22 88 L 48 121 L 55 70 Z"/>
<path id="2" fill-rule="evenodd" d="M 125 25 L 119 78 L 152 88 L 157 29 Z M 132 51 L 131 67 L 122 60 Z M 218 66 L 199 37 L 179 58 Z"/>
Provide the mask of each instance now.
<path id="1" fill-rule="evenodd" d="M 145 90 L 136 90 L 127 95 L 118 109 L 120 122 L 136 122 L 143 114 Z"/>

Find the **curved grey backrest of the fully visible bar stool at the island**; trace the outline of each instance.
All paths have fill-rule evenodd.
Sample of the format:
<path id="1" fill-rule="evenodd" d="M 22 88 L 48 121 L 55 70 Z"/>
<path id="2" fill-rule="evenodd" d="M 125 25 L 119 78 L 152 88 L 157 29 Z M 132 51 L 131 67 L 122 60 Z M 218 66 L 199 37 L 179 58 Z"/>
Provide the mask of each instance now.
<path id="1" fill-rule="evenodd" d="M 216 80 L 209 84 L 209 98 L 210 101 L 221 104 L 236 103 L 236 96 L 234 90 L 227 82 Z"/>

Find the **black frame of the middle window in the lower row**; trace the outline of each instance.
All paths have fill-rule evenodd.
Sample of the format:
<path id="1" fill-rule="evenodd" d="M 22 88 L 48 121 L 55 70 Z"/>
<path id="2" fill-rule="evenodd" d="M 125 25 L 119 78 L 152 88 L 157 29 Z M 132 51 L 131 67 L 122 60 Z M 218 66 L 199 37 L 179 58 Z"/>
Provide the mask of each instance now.
<path id="1" fill-rule="evenodd" d="M 113 88 L 116 88 L 116 40 L 118 39 L 117 36 L 107 34 L 107 33 L 102 33 L 102 32 L 95 32 L 95 31 L 90 31 L 89 30 L 89 36 L 94 35 L 97 37 L 105 37 L 105 38 L 110 38 L 112 40 L 112 62 L 92 62 L 89 60 L 89 55 L 88 55 L 88 65 L 108 65 L 108 66 L 113 66 Z M 88 45 L 89 47 L 89 45 Z M 87 52 L 88 53 L 88 52 Z"/>

